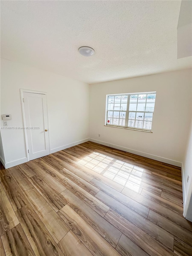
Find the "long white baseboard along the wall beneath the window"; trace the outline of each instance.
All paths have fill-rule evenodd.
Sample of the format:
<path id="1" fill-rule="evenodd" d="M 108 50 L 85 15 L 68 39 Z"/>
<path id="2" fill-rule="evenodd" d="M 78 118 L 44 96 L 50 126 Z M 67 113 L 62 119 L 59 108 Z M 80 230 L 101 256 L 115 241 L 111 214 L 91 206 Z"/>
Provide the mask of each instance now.
<path id="1" fill-rule="evenodd" d="M 92 141 L 92 142 L 101 144 L 101 145 L 105 145 L 105 146 L 114 148 L 114 149 L 119 149 L 119 150 L 129 152 L 129 153 L 132 153 L 132 154 L 135 154 L 135 155 L 140 155 L 140 156 L 144 156 L 144 157 L 147 157 L 147 158 L 150 158 L 150 159 L 153 159 L 153 160 L 161 161 L 161 162 L 166 163 L 166 164 L 173 164 L 173 165 L 179 166 L 179 167 L 182 166 L 181 162 L 178 162 L 178 161 L 175 161 L 175 160 L 172 160 L 172 159 L 164 158 L 164 157 L 157 156 L 157 155 L 151 155 L 151 154 L 148 154 L 148 153 L 145 153 L 145 152 L 125 148 L 125 147 L 122 147 L 122 146 L 110 144 L 110 143 L 100 141 L 100 140 L 95 140 L 95 139 L 91 139 L 91 138 L 89 140 Z"/>

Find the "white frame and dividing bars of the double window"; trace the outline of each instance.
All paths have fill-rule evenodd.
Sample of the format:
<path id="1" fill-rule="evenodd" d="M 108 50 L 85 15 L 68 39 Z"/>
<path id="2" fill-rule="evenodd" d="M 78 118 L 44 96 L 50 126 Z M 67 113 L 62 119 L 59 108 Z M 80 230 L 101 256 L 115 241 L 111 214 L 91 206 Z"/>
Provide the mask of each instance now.
<path id="1" fill-rule="evenodd" d="M 154 111 L 155 111 L 155 107 L 154 107 L 154 111 L 129 111 L 129 104 L 130 104 L 130 96 L 131 95 L 143 95 L 143 94 L 156 94 L 156 92 L 134 92 L 134 93 L 122 93 L 122 94 L 108 94 L 106 95 L 106 114 L 105 114 L 105 125 L 107 126 L 112 126 L 112 127 L 119 127 L 119 128 L 126 128 L 126 129 L 131 129 L 131 130 L 140 130 L 140 131 L 149 131 L 151 132 L 152 131 L 152 126 L 151 126 L 151 129 L 144 129 L 144 128 L 136 128 L 136 127 L 131 127 L 131 126 L 128 126 L 128 117 L 129 117 L 129 112 L 133 112 L 133 113 L 137 113 L 137 112 L 140 112 L 140 113 L 152 113 L 154 114 Z M 108 102 L 109 102 L 109 96 L 125 96 L 127 95 L 128 96 L 128 101 L 127 101 L 127 110 L 108 110 Z M 155 97 L 155 100 L 156 100 L 156 97 Z M 147 99 L 146 99 L 147 101 Z M 146 102 L 147 103 L 147 102 Z M 138 102 L 137 102 L 138 104 Z M 136 107 L 136 110 L 137 110 L 137 107 Z M 125 126 L 123 125 L 113 125 L 113 124 L 109 124 L 107 122 L 108 120 L 108 111 L 117 111 L 117 112 L 125 112 L 126 113 L 126 116 L 125 116 Z M 135 117 L 136 118 L 136 117 Z M 136 120 L 136 119 L 135 119 Z M 152 125 L 153 125 L 153 115 L 152 115 Z M 143 124 L 144 124 L 144 118 L 143 118 Z"/>

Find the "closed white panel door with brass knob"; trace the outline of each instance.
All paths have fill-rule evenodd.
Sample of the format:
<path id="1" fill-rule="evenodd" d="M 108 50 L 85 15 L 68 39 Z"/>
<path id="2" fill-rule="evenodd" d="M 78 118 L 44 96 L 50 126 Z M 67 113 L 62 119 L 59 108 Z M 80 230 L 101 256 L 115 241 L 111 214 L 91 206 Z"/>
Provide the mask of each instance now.
<path id="1" fill-rule="evenodd" d="M 23 92 L 29 160 L 49 155 L 46 95 Z"/>

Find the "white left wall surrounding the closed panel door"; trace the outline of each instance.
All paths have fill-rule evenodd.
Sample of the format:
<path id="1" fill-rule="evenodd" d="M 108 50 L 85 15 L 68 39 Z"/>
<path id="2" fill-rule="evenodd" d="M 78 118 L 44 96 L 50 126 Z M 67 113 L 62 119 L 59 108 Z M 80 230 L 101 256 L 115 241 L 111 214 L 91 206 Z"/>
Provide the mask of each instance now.
<path id="1" fill-rule="evenodd" d="M 1 59 L 1 114 L 12 115 L 9 126 L 23 126 L 20 89 L 47 92 L 51 149 L 88 138 L 88 84 Z M 1 138 L 5 163 L 25 161 L 23 130 L 1 130 Z"/>

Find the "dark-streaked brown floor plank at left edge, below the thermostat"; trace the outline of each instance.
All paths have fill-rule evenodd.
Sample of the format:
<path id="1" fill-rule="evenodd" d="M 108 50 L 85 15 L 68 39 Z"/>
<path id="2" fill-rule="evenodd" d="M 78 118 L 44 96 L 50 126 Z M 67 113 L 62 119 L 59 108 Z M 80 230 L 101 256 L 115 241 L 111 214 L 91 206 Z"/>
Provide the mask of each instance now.
<path id="1" fill-rule="evenodd" d="M 29 203 L 10 174 L 1 177 L 1 184 L 14 211 Z"/>

